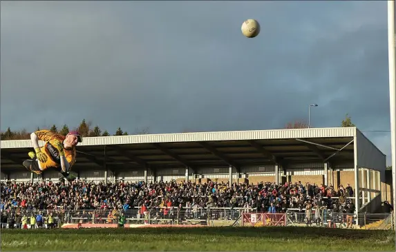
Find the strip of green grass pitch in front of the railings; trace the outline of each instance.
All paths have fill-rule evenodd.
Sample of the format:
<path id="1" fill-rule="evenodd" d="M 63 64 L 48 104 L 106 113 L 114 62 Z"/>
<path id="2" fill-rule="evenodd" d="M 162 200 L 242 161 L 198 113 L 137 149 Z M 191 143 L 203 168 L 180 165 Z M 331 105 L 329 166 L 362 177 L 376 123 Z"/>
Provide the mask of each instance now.
<path id="1" fill-rule="evenodd" d="M 309 227 L 3 229 L 1 251 L 395 251 L 395 231 Z"/>

